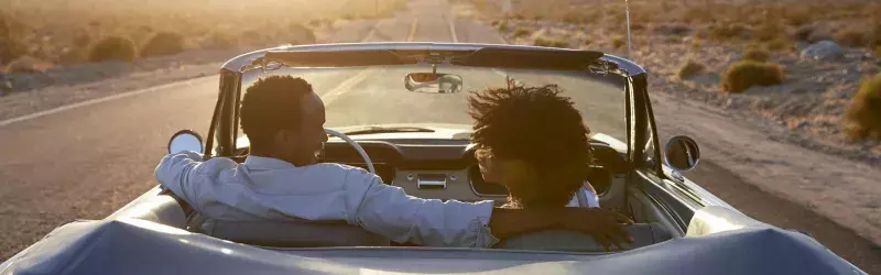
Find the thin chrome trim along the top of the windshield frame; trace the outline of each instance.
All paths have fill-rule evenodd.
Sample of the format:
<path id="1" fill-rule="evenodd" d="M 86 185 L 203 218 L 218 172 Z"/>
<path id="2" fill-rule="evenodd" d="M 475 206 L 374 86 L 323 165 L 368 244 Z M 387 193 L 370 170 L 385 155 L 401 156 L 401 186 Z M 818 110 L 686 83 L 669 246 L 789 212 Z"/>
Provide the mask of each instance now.
<path id="1" fill-rule="evenodd" d="M 524 46 L 524 45 L 505 45 L 505 44 L 478 44 L 478 43 L 432 43 L 432 42 L 378 42 L 378 43 L 335 43 L 335 44 L 312 44 L 312 45 L 296 45 L 296 46 L 279 46 L 259 50 L 246 53 L 233 57 L 226 62 L 222 66 L 224 69 L 232 72 L 243 72 L 247 66 L 250 66 L 253 61 L 262 58 L 268 52 L 344 52 L 344 51 L 369 51 L 369 50 L 406 50 L 406 51 L 477 51 L 483 47 L 497 48 L 518 48 L 518 50 L 534 50 L 534 51 L 548 51 L 548 52 L 576 52 L 579 50 L 570 48 L 556 48 L 556 47 L 540 47 L 540 46 Z M 628 76 L 635 76 L 646 74 L 645 69 L 635 63 L 618 57 L 614 55 L 603 55 L 601 59 L 613 62 L 618 67 L 627 73 Z"/>

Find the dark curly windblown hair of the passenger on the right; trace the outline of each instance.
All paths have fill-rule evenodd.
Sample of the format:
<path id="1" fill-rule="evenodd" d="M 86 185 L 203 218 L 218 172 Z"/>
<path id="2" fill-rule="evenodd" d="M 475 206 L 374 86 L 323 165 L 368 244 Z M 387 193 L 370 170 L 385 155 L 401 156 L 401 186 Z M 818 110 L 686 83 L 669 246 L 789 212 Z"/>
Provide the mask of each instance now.
<path id="1" fill-rule="evenodd" d="M 519 160 L 535 168 L 537 183 L 511 190 L 514 207 L 563 207 L 587 178 L 592 160 L 590 130 L 572 99 L 556 85 L 471 92 L 472 142 L 496 160 Z"/>

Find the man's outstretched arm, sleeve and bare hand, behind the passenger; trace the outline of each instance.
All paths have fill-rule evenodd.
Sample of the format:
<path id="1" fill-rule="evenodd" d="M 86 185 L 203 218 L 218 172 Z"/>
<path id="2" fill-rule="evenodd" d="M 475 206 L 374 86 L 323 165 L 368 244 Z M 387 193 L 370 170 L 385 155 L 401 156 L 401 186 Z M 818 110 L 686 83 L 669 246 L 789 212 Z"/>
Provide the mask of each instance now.
<path id="1" fill-rule="evenodd" d="M 359 174 L 350 175 L 358 177 Z M 627 241 L 622 223 L 630 220 L 601 209 L 499 209 L 492 201 L 477 204 L 421 199 L 388 186 L 374 175 L 350 222 L 392 241 L 428 246 L 490 248 L 497 238 L 551 228 L 594 235 L 603 244 Z"/>

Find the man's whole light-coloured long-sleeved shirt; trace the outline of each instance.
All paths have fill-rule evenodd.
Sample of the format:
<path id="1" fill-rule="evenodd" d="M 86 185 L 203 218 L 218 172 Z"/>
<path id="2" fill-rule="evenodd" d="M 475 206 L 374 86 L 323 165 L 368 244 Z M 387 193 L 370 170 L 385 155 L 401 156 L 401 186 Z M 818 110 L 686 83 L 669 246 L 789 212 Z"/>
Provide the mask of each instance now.
<path id="1" fill-rule="evenodd" d="M 195 152 L 162 158 L 160 185 L 196 211 L 219 220 L 345 220 L 392 241 L 429 246 L 490 248 L 491 200 L 421 199 L 365 169 L 339 164 L 296 167 L 248 156 L 243 164 Z"/>

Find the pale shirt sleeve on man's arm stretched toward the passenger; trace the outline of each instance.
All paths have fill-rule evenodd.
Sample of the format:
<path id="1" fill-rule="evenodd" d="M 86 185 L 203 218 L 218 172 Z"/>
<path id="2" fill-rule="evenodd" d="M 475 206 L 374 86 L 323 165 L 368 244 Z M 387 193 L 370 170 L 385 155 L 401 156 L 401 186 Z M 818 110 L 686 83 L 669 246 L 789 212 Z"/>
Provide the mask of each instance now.
<path id="1" fill-rule="evenodd" d="M 468 204 L 421 199 L 406 195 L 401 187 L 382 184 L 376 175 L 357 178 L 369 183 L 354 223 L 368 231 L 399 243 L 428 246 L 490 248 L 499 242 L 489 228 L 491 200 Z"/>

